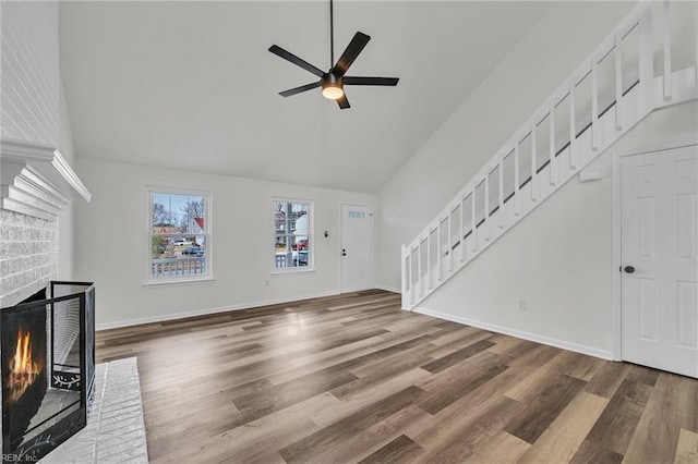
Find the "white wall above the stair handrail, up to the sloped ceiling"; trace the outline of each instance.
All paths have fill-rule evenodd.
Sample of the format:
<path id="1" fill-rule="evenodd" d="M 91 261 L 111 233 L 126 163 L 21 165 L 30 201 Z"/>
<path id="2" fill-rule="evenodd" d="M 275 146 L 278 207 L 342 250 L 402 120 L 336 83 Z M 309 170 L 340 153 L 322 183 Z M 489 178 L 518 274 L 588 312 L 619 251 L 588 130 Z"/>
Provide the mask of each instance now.
<path id="1" fill-rule="evenodd" d="M 407 244 L 633 9 L 561 2 L 381 190 L 376 282 L 400 286 Z"/>

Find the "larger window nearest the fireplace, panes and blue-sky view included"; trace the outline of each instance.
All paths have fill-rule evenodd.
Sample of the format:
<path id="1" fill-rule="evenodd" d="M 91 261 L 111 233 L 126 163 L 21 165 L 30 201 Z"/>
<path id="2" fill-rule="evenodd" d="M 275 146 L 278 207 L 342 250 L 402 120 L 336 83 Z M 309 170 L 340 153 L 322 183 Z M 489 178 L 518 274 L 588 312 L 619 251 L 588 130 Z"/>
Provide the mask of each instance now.
<path id="1" fill-rule="evenodd" d="M 151 187 L 151 282 L 210 278 L 210 195 Z"/>

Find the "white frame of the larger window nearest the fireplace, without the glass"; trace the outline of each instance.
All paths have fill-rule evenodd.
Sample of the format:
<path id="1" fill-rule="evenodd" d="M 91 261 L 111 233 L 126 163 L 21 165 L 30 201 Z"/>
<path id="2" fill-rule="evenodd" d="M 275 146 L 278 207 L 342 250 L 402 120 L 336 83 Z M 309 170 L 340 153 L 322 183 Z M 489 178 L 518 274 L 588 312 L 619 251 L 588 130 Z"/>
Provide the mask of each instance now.
<path id="1" fill-rule="evenodd" d="M 164 186 L 164 185 L 147 185 L 147 234 L 146 234 L 146 246 L 147 246 L 147 264 L 145 266 L 145 282 L 144 285 L 172 285 L 180 283 L 191 283 L 191 282 L 205 282 L 215 280 L 213 272 L 213 222 L 212 222 L 212 209 L 213 209 L 213 200 L 212 200 L 212 192 L 206 190 L 198 188 L 185 188 L 185 187 L 172 187 L 172 186 Z M 201 196 L 204 198 L 204 227 L 203 232 L 201 234 L 192 234 L 192 235 L 203 235 L 205 243 L 205 269 L 204 273 L 200 274 L 189 274 L 189 276 L 170 276 L 170 277 L 153 277 L 153 237 L 155 235 L 177 235 L 177 234 L 154 234 L 153 233 L 153 198 L 155 194 L 164 194 L 164 195 L 191 195 L 191 196 Z M 171 211 L 170 211 L 171 212 Z M 185 234 L 181 234 L 185 235 Z"/>

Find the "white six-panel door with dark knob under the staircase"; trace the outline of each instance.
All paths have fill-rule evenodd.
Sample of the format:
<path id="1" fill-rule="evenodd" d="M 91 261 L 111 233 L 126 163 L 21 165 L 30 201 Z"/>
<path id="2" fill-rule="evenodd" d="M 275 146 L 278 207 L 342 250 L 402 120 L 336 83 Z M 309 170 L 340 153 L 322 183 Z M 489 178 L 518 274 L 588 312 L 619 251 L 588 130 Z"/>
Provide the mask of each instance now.
<path id="1" fill-rule="evenodd" d="M 621 163 L 623 359 L 698 377 L 698 146 Z"/>

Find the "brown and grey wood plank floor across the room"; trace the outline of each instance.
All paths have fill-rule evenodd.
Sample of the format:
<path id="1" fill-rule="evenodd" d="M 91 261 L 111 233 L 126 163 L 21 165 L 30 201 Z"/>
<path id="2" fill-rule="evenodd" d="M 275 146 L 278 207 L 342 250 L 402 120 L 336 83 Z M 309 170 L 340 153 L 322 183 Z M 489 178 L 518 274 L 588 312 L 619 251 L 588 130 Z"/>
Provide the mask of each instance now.
<path id="1" fill-rule="evenodd" d="M 698 380 L 368 291 L 97 333 L 154 463 L 697 463 Z"/>

